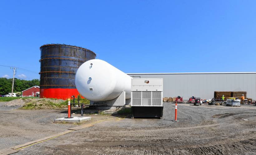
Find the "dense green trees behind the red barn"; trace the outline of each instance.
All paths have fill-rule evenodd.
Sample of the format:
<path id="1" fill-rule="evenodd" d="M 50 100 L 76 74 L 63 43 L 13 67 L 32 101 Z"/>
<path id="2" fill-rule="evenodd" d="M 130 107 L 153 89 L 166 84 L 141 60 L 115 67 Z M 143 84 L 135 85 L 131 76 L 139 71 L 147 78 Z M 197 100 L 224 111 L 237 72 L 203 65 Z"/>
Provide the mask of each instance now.
<path id="1" fill-rule="evenodd" d="M 21 79 L 14 79 L 14 87 L 13 92 L 20 92 L 24 91 L 32 86 L 39 86 L 40 80 L 33 79 L 33 80 L 21 80 Z M 12 92 L 12 78 L 0 78 L 0 95 L 5 95 Z"/>

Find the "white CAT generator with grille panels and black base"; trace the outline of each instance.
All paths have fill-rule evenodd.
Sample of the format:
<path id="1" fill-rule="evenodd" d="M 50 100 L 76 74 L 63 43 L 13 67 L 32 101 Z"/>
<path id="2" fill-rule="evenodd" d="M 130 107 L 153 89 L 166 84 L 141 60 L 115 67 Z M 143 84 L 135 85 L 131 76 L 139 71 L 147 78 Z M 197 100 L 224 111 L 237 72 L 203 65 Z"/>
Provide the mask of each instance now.
<path id="1" fill-rule="evenodd" d="M 132 118 L 158 117 L 163 115 L 163 79 L 131 79 Z"/>

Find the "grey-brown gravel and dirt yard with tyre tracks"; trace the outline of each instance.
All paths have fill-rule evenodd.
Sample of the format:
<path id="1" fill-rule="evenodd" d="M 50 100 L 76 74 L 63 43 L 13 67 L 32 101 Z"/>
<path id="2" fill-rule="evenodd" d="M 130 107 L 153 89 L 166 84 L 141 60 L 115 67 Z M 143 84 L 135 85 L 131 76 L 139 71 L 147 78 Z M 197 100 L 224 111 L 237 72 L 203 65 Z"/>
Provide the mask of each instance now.
<path id="1" fill-rule="evenodd" d="M 5 107 L 0 107 L 5 108 Z M 0 148 L 8 148 L 61 131 L 61 110 L 2 109 Z M 94 126 L 21 149 L 17 154 L 256 154 L 256 106 L 227 107 L 164 103 L 163 119 L 118 121 L 91 115 Z M 245 121 L 243 119 L 247 119 Z"/>

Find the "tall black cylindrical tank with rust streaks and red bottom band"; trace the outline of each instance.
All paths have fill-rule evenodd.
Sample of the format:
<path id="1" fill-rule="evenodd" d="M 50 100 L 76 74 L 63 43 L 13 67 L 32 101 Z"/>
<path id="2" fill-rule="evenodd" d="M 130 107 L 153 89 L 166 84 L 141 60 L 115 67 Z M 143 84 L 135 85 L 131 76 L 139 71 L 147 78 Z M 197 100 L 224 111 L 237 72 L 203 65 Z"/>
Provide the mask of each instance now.
<path id="1" fill-rule="evenodd" d="M 40 98 L 67 99 L 79 95 L 75 87 L 75 73 L 85 61 L 96 54 L 86 48 L 47 44 L 40 47 Z"/>

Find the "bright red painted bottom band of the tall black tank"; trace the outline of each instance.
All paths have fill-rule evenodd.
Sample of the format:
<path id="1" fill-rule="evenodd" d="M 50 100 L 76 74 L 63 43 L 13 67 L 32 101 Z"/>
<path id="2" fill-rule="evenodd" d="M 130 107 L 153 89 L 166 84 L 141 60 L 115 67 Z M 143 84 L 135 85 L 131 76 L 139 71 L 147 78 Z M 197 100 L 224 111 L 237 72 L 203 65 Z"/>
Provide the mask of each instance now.
<path id="1" fill-rule="evenodd" d="M 77 97 L 79 92 L 77 89 L 63 89 L 63 88 L 46 88 L 40 89 L 40 98 L 55 98 L 66 100 L 75 95 Z"/>

